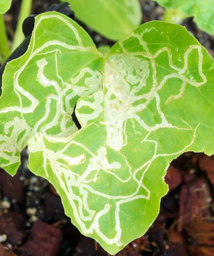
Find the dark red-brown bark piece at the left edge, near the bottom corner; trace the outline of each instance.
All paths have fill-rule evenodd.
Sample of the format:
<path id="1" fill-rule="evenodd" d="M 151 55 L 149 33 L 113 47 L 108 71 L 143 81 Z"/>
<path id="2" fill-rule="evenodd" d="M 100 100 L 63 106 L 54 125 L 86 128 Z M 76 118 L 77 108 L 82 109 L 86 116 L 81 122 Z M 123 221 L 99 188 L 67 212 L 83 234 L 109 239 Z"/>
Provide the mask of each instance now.
<path id="1" fill-rule="evenodd" d="M 23 226 L 23 217 L 17 212 L 0 212 L 0 235 L 7 236 L 7 242 L 16 247 L 22 242 L 23 233 L 20 228 Z"/>

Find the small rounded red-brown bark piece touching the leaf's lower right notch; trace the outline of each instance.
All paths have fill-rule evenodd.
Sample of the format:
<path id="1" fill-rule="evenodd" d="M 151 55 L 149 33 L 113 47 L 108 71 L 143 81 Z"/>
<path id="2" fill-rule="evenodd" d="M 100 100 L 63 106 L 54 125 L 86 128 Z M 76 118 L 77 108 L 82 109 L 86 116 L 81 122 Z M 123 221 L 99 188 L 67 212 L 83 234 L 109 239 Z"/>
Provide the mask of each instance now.
<path id="1" fill-rule="evenodd" d="M 182 180 L 180 172 L 176 168 L 174 168 L 174 166 L 170 165 L 165 176 L 165 182 L 169 186 L 169 191 L 179 186 L 181 181 Z"/>

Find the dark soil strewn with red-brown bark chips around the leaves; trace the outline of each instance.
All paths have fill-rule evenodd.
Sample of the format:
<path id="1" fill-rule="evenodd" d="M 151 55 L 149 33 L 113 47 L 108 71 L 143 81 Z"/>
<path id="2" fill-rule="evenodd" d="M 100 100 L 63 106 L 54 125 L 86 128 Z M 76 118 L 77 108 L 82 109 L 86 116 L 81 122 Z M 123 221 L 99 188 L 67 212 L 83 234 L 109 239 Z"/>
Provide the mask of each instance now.
<path id="1" fill-rule="evenodd" d="M 34 0 L 32 13 L 44 12 L 58 0 Z M 143 23 L 161 20 L 163 8 L 141 0 Z M 5 15 L 12 41 L 20 0 L 13 0 Z M 78 20 L 77 20 L 78 21 Z M 109 41 L 80 23 L 97 46 Z M 214 37 L 200 31 L 192 18 L 184 20 L 200 43 L 214 56 Z M 61 199 L 51 184 L 33 175 L 28 149 L 11 177 L 0 169 L 0 256 L 107 256 L 93 239 L 82 236 L 64 214 Z M 139 239 L 118 256 L 212 256 L 214 255 L 214 156 L 187 152 L 174 160 L 165 177 L 169 193 L 161 202 L 158 218 Z"/>

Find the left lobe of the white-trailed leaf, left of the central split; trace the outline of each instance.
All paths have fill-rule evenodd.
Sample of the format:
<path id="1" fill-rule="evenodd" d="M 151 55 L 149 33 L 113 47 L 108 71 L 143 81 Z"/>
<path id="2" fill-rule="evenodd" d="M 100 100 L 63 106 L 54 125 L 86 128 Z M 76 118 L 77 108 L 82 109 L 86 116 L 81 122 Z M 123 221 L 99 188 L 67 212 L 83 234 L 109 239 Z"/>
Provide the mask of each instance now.
<path id="1" fill-rule="evenodd" d="M 103 58 L 89 35 L 68 17 L 36 17 L 27 52 L 6 65 L 0 98 L 0 166 L 11 175 L 20 151 L 37 132 L 77 131 L 71 119 L 80 96 L 101 87 Z"/>

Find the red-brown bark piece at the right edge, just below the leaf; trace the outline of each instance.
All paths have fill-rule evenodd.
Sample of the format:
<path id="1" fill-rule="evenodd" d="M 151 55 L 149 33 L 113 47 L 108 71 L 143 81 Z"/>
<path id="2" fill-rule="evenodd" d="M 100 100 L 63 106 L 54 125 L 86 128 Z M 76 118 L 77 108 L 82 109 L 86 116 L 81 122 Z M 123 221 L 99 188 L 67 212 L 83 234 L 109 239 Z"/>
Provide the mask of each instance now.
<path id="1" fill-rule="evenodd" d="M 214 186 L 214 156 L 208 157 L 205 154 L 201 154 L 199 157 L 199 166 L 206 171 L 210 182 Z"/>

